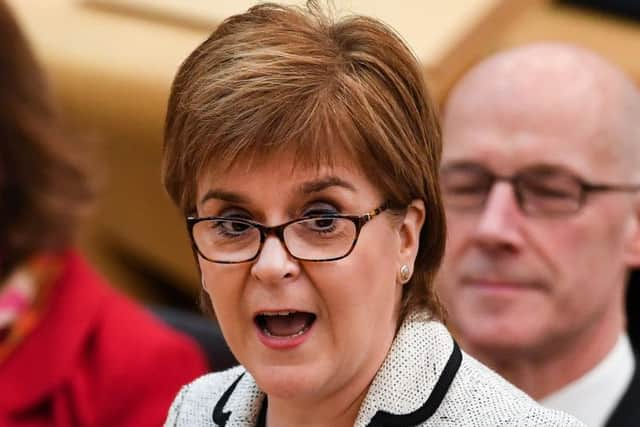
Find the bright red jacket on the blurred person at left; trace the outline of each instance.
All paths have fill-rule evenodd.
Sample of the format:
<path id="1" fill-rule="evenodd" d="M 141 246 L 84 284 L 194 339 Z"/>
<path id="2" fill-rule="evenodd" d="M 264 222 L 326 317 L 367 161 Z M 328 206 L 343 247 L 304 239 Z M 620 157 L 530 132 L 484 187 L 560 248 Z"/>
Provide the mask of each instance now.
<path id="1" fill-rule="evenodd" d="M 0 427 L 160 426 L 206 370 L 195 342 L 70 252 L 39 325 L 0 364 Z"/>

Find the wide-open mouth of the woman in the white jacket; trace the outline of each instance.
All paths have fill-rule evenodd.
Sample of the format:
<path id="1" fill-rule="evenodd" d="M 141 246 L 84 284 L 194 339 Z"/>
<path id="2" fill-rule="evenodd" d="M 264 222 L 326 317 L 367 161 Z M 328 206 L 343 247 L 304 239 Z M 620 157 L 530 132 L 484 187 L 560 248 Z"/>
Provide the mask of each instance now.
<path id="1" fill-rule="evenodd" d="M 269 347 L 296 346 L 316 321 L 316 315 L 304 311 L 273 311 L 258 313 L 254 322 L 260 331 L 263 342 Z M 280 341 L 278 344 L 277 342 Z M 298 342 L 299 341 L 299 342 Z M 280 344 L 285 344 L 282 346 Z M 277 344 L 277 345 L 274 345 Z"/>

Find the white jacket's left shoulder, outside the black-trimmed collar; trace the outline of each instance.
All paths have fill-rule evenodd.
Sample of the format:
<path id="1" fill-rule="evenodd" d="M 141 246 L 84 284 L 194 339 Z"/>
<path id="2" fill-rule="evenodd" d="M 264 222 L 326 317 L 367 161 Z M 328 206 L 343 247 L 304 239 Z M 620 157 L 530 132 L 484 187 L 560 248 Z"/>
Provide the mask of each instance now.
<path id="1" fill-rule="evenodd" d="M 245 373 L 242 366 L 204 375 L 182 387 L 169 409 L 165 427 L 214 426 L 214 405 L 222 394 Z"/>

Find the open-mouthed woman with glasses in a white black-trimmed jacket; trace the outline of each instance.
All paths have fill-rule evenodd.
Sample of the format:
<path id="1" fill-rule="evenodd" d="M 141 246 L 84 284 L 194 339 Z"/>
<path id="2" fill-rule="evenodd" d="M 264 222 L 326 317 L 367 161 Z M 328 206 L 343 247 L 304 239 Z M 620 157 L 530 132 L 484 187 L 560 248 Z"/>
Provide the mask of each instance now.
<path id="1" fill-rule="evenodd" d="M 191 54 L 164 181 L 243 366 L 185 387 L 167 426 L 578 425 L 438 321 L 440 148 L 415 59 L 375 20 L 266 4 Z"/>

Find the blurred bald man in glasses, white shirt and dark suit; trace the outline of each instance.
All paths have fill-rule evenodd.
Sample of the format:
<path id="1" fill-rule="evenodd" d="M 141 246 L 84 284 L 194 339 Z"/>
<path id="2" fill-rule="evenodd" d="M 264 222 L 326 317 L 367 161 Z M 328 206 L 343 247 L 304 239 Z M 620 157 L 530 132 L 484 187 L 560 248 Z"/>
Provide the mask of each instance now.
<path id="1" fill-rule="evenodd" d="M 640 94 L 584 49 L 500 53 L 443 117 L 437 286 L 463 348 L 589 426 L 640 425 L 625 332 L 640 265 Z"/>

